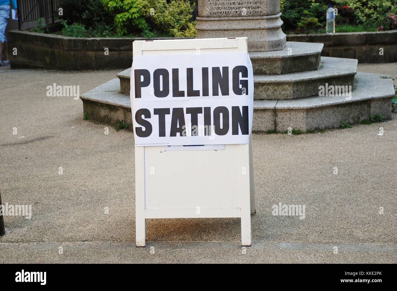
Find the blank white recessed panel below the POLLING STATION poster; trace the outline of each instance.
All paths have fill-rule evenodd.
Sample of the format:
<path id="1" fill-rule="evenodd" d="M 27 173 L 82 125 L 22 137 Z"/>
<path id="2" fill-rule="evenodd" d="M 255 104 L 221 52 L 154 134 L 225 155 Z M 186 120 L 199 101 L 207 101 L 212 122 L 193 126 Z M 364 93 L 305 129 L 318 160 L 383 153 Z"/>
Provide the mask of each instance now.
<path id="1" fill-rule="evenodd" d="M 164 146 L 145 147 L 145 209 L 240 208 L 239 148 L 164 151 Z"/>

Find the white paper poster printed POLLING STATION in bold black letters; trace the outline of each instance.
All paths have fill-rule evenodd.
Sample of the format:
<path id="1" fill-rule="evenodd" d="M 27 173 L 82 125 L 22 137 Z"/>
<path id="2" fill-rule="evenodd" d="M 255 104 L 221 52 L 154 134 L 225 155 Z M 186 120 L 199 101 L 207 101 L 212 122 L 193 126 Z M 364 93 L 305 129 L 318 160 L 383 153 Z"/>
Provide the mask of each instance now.
<path id="1" fill-rule="evenodd" d="M 247 52 L 135 56 L 135 146 L 248 144 L 253 94 Z"/>

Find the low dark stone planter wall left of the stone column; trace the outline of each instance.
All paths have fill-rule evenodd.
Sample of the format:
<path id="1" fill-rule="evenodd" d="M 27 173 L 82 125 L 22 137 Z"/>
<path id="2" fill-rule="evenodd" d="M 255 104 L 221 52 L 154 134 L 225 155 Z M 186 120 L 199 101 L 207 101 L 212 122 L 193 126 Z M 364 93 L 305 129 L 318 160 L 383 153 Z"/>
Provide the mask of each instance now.
<path id="1" fill-rule="evenodd" d="M 132 64 L 132 43 L 142 39 L 144 38 L 78 38 L 18 30 L 8 32 L 10 52 L 14 47 L 17 48 L 17 55 L 10 55 L 12 68 L 128 68 Z M 106 48 L 108 55 L 105 54 Z"/>

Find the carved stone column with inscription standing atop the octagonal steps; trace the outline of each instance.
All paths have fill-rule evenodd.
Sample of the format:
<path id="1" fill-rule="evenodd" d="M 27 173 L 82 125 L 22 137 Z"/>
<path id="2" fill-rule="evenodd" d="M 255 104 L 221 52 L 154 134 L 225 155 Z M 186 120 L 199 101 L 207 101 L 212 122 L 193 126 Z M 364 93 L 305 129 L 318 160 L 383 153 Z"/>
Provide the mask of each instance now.
<path id="1" fill-rule="evenodd" d="M 280 0 L 198 0 L 197 38 L 248 37 L 250 52 L 282 50 Z"/>

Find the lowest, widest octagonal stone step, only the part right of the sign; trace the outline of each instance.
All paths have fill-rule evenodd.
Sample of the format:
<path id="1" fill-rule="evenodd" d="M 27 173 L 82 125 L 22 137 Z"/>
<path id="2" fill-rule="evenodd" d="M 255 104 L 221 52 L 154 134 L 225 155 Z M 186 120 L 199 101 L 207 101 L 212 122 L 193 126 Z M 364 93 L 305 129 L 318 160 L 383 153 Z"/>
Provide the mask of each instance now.
<path id="1" fill-rule="evenodd" d="M 349 124 L 372 114 L 391 118 L 392 79 L 385 75 L 357 73 L 355 89 L 349 97 L 310 97 L 291 100 L 254 100 L 252 130 L 302 131 L 338 128 L 340 120 Z"/>

